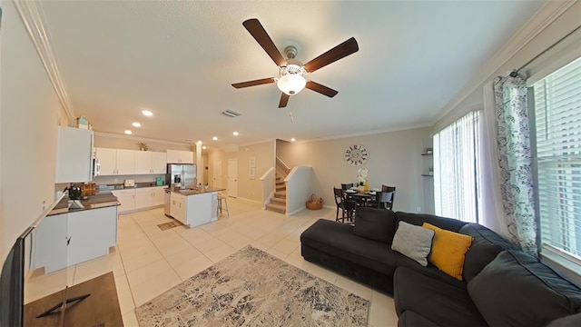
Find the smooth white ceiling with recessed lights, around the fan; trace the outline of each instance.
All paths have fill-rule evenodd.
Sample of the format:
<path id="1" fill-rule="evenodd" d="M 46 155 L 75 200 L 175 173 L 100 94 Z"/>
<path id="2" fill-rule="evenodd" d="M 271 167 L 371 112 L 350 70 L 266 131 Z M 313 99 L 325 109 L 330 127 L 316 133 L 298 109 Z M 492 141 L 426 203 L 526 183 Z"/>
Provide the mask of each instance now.
<path id="1" fill-rule="evenodd" d="M 227 148 L 433 124 L 543 3 L 45 1 L 42 7 L 74 112 L 95 131 L 131 129 L 138 138 Z M 242 26 L 249 18 L 261 21 L 281 53 L 295 45 L 303 63 L 355 37 L 359 52 L 308 76 L 339 94 L 331 99 L 305 89 L 279 109 L 276 84 L 234 89 L 232 83 L 278 75 Z M 242 115 L 221 114 L 228 109 Z"/>

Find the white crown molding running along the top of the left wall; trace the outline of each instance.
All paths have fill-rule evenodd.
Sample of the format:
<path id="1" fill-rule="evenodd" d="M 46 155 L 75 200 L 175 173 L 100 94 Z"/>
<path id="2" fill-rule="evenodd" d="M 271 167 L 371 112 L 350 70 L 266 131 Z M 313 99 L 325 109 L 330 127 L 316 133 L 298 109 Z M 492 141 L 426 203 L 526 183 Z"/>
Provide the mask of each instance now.
<path id="1" fill-rule="evenodd" d="M 13 0 L 16 11 L 24 23 L 28 35 L 33 41 L 34 48 L 44 65 L 44 70 L 53 84 L 54 92 L 61 103 L 64 115 L 69 122 L 73 122 L 73 103 L 64 87 L 64 82 L 58 70 L 56 56 L 50 43 L 48 31 L 44 28 L 43 8 L 40 1 Z"/>

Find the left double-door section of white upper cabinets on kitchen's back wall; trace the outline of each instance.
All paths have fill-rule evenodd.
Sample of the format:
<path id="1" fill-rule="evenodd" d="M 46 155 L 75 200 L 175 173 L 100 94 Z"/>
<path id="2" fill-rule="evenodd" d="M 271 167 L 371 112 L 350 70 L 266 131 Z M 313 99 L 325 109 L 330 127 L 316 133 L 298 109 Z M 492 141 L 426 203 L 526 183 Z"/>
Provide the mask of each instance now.
<path id="1" fill-rule="evenodd" d="M 133 150 L 95 148 L 95 157 L 101 164 L 102 175 L 135 173 L 135 155 Z"/>

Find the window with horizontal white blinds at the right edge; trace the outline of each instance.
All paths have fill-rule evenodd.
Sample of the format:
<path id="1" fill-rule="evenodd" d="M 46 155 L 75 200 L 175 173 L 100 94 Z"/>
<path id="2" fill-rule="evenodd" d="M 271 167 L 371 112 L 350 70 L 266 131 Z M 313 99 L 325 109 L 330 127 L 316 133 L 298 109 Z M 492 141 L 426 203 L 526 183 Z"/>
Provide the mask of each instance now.
<path id="1" fill-rule="evenodd" d="M 532 85 L 541 253 L 581 263 L 581 58 Z"/>

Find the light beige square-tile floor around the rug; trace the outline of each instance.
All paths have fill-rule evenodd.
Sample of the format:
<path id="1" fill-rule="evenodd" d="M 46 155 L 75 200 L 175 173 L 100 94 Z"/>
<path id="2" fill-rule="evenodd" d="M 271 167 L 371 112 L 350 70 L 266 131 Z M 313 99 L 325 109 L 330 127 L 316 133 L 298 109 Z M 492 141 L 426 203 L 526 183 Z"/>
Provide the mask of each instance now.
<path id="1" fill-rule="evenodd" d="M 33 278 L 52 278 L 74 284 L 113 271 L 123 322 L 138 326 L 134 308 L 142 305 L 210 267 L 244 246 L 251 244 L 267 253 L 310 272 L 371 302 L 369 326 L 397 326 L 393 299 L 383 293 L 309 263 L 300 255 L 300 233 L 320 218 L 334 220 L 335 210 L 304 210 L 293 216 L 261 209 L 259 203 L 228 198 L 230 216 L 196 228 L 174 227 L 162 231 L 157 225 L 170 222 L 162 208 L 119 216 L 115 251 L 101 258 L 80 263 L 66 270 Z M 52 292 L 54 292 L 52 291 Z M 26 302 L 50 291 L 27 290 Z"/>

